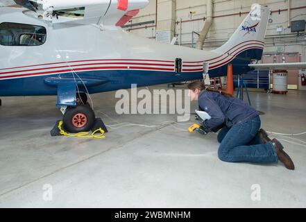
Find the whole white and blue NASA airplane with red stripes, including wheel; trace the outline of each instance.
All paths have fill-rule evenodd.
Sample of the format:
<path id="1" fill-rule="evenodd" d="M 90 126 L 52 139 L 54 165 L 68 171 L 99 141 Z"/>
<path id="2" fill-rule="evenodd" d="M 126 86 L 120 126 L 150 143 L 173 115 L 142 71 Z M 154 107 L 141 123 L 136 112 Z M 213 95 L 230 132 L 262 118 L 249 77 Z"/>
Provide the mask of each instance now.
<path id="1" fill-rule="evenodd" d="M 13 6 L 17 3 L 19 7 Z M 0 96 L 57 95 L 65 128 L 87 131 L 86 94 L 226 76 L 262 58 L 270 10 L 254 4 L 230 40 L 201 51 L 137 37 L 123 26 L 148 0 L 0 0 Z M 22 6 L 22 7 L 20 7 Z M 78 97 L 80 99 L 78 99 Z"/>

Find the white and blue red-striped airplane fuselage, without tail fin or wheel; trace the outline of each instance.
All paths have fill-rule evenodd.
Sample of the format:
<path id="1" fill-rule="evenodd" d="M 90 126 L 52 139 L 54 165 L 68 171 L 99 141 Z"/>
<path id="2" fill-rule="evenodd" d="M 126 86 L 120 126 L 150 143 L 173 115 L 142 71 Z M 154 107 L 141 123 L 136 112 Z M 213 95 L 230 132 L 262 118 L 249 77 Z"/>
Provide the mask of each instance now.
<path id="1" fill-rule="evenodd" d="M 56 95 L 57 83 L 84 80 L 90 94 L 176 83 L 203 77 L 203 62 L 210 77 L 226 76 L 228 63 L 234 74 L 250 71 L 260 59 L 263 42 L 247 40 L 225 53 L 162 44 L 114 26 L 56 24 L 35 19 L 22 9 L 0 8 L 0 24 L 31 24 L 46 28 L 39 46 L 0 45 L 0 96 Z M 176 71 L 176 60 L 182 60 Z M 82 84 L 80 90 L 85 91 Z"/>

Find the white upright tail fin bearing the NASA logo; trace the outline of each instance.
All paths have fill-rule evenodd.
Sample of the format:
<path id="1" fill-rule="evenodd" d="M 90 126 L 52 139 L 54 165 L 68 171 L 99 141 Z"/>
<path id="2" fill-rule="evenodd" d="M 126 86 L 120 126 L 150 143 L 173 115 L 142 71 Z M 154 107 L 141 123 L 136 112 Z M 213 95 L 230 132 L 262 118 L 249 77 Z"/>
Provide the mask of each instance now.
<path id="1" fill-rule="evenodd" d="M 247 49 L 261 49 L 254 53 L 251 59 L 260 60 L 264 48 L 264 36 L 269 21 L 270 10 L 260 4 L 253 4 L 250 13 L 241 23 L 239 28 L 223 46 L 215 49 L 216 53 L 233 55 Z"/>

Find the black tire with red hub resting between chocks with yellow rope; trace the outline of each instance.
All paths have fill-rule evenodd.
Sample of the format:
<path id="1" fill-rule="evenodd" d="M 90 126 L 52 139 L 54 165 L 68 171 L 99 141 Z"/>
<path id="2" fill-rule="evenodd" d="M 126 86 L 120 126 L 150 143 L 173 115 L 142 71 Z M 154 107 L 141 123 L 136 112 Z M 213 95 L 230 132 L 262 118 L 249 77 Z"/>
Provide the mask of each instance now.
<path id="1" fill-rule="evenodd" d="M 92 129 L 96 120 L 94 110 L 89 105 L 78 105 L 69 108 L 62 118 L 63 125 L 69 133 L 87 132 Z"/>

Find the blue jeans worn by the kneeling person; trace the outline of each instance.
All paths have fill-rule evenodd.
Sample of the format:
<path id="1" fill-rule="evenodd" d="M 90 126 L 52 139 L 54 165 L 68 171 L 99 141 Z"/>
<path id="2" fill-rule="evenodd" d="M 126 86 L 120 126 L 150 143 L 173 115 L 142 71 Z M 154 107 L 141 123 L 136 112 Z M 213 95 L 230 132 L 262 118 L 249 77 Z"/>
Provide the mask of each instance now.
<path id="1" fill-rule="evenodd" d="M 260 123 L 260 117 L 255 117 L 232 128 L 224 127 L 218 135 L 219 159 L 225 162 L 278 162 L 273 144 L 261 142 Z"/>

